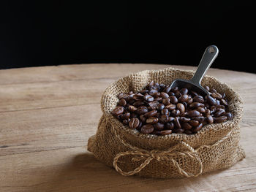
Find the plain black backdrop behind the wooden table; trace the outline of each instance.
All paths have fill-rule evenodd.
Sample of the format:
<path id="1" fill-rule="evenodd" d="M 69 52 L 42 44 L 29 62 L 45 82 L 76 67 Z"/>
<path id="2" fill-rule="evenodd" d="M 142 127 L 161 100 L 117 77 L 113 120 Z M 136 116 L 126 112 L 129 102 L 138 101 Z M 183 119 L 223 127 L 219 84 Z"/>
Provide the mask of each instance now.
<path id="1" fill-rule="evenodd" d="M 82 2 L 82 3 L 81 3 Z M 0 3 L 0 68 L 91 63 L 255 72 L 252 1 L 8 1 Z"/>

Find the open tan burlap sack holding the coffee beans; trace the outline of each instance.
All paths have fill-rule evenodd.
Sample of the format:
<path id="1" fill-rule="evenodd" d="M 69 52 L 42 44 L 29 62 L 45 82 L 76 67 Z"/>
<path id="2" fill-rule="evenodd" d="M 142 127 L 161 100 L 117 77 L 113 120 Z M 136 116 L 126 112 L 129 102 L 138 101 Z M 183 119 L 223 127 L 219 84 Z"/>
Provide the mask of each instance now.
<path id="1" fill-rule="evenodd" d="M 233 119 L 204 126 L 197 134 L 141 134 L 110 114 L 116 107 L 118 93 L 140 91 L 152 80 L 170 85 L 176 78 L 188 80 L 192 74 L 173 68 L 147 70 L 114 82 L 102 95 L 103 115 L 97 134 L 89 138 L 88 150 L 99 161 L 115 167 L 120 174 L 161 178 L 196 177 L 227 168 L 244 158 L 244 150 L 239 145 L 241 98 L 229 85 L 214 77 L 204 77 L 202 85 L 226 93 Z"/>

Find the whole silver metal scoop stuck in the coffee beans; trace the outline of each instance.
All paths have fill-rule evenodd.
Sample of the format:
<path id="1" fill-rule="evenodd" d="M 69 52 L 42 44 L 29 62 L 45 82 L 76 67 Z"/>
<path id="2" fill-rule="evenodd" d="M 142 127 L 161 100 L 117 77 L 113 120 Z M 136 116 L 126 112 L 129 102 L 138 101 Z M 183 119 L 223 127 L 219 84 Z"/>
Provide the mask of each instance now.
<path id="1" fill-rule="evenodd" d="M 189 88 L 192 91 L 199 93 L 202 96 L 209 95 L 208 91 L 200 85 L 203 76 L 206 74 L 208 68 L 214 62 L 214 59 L 217 58 L 219 53 L 218 48 L 215 45 L 210 45 L 206 48 L 203 57 L 201 58 L 200 64 L 197 67 L 197 71 L 191 80 L 174 80 L 170 88 L 179 87 L 179 88 Z"/>

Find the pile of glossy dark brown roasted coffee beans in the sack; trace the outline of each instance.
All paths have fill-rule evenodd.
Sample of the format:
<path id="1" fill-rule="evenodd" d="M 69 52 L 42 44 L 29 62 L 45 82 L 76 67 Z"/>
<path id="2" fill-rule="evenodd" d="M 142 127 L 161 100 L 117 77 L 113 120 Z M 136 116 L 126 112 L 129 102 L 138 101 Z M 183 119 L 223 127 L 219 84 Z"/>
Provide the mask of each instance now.
<path id="1" fill-rule="evenodd" d="M 206 124 L 222 123 L 233 117 L 228 112 L 225 93 L 205 88 L 210 96 L 152 81 L 138 93 L 119 93 L 112 114 L 143 134 L 195 134 Z"/>

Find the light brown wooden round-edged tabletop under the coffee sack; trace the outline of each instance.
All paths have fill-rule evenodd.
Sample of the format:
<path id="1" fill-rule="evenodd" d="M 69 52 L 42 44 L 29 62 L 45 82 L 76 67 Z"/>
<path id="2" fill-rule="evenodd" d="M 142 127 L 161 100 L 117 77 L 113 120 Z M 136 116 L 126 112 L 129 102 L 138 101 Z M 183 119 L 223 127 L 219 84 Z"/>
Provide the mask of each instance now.
<path id="1" fill-rule="evenodd" d="M 209 69 L 244 99 L 241 145 L 230 169 L 182 180 L 124 177 L 86 151 L 110 83 L 153 64 L 0 70 L 0 191 L 256 191 L 256 74 Z M 192 66 L 174 66 L 195 69 Z"/>

